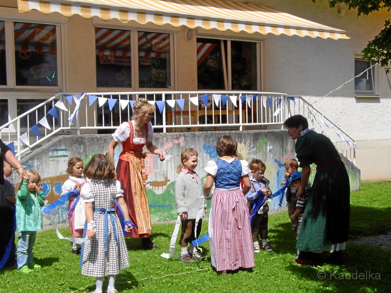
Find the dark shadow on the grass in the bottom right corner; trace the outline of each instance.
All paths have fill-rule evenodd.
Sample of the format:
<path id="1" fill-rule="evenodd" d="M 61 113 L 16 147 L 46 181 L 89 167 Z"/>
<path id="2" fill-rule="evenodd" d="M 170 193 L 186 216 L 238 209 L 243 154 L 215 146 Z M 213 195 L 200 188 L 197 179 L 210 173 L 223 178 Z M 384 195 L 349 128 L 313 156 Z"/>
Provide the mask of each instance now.
<path id="1" fill-rule="evenodd" d="M 287 269 L 301 278 L 322 282 L 317 292 L 390 292 L 391 251 L 361 244 L 348 244 L 345 264 L 322 267 L 300 266 L 292 262 Z"/>

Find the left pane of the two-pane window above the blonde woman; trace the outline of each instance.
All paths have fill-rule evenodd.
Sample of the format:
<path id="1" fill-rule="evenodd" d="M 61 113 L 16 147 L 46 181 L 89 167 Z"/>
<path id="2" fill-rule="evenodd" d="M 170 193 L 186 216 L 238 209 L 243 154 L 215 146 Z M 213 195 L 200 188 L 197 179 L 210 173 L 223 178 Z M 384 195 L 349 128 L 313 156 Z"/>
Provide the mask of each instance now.
<path id="1" fill-rule="evenodd" d="M 131 87 L 130 31 L 95 28 L 96 86 Z"/>

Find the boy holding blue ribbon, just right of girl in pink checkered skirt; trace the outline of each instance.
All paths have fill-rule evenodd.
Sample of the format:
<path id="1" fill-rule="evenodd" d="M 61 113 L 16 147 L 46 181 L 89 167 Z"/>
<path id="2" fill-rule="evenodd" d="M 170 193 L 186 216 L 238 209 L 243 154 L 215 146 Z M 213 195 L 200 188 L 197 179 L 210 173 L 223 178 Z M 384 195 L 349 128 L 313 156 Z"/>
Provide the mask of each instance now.
<path id="1" fill-rule="evenodd" d="M 253 235 L 254 252 L 261 252 L 258 236 L 262 239 L 262 249 L 273 251 L 267 242 L 267 225 L 269 206 L 265 204 L 266 200 L 271 198 L 272 191 L 269 188 L 270 181 L 264 178 L 266 171 L 265 164 L 259 159 L 252 159 L 249 166 L 253 178 L 251 181 L 250 191 L 246 193 L 246 198 L 250 203 L 250 214 L 253 212 L 253 203 L 262 200 L 261 208 L 255 212 L 251 219 L 251 233 Z"/>

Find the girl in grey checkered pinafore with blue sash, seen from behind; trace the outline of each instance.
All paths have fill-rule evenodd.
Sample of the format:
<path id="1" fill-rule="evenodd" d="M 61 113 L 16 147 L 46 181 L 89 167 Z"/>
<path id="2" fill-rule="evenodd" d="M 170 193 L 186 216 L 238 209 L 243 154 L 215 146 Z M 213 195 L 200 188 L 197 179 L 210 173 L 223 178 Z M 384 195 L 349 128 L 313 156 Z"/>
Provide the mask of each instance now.
<path id="1" fill-rule="evenodd" d="M 109 276 L 107 292 L 115 293 L 115 276 L 129 267 L 129 258 L 121 224 L 113 208 L 114 199 L 117 198 L 124 214 L 127 232 L 131 229 L 128 207 L 121 185 L 115 180 L 114 165 L 106 155 L 94 155 L 84 174 L 88 181 L 80 193 L 86 201 L 88 239 L 82 249 L 82 274 L 96 278 L 94 293 L 102 292 L 103 278 Z"/>

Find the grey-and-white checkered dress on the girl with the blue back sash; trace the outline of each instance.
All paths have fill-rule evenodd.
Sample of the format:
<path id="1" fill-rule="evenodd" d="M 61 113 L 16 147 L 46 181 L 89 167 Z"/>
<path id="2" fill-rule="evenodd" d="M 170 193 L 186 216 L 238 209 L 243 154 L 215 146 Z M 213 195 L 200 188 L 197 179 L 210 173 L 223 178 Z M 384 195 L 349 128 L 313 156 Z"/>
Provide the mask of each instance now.
<path id="1" fill-rule="evenodd" d="M 112 209 L 116 196 L 115 180 L 90 180 L 89 186 L 95 201 L 92 208 Z M 117 275 L 129 267 L 128 251 L 117 214 L 114 216 L 118 245 L 115 243 L 113 226 L 108 214 L 108 249 L 105 252 L 105 213 L 94 212 L 95 236 L 84 243 L 82 274 L 91 277 Z"/>

